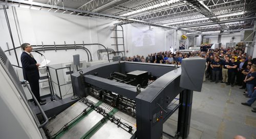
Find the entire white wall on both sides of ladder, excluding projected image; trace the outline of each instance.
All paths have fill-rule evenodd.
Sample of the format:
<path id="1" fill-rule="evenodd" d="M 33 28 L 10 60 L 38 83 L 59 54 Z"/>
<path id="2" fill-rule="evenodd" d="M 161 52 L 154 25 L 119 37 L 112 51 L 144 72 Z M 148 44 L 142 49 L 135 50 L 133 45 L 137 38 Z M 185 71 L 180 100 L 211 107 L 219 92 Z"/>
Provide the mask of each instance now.
<path id="1" fill-rule="evenodd" d="M 114 31 L 111 29 L 114 28 L 114 24 L 118 21 L 106 20 L 100 18 L 90 18 L 84 16 L 75 16 L 69 14 L 60 14 L 52 13 L 45 11 L 37 11 L 24 8 L 16 8 L 17 20 L 19 22 L 18 28 L 20 29 L 20 37 L 22 42 L 28 42 L 32 45 L 41 45 L 43 42 L 46 44 L 64 44 L 66 41 L 67 44 L 74 44 L 74 41 L 77 43 L 100 43 L 103 44 L 106 48 L 111 48 L 116 51 Z M 15 47 L 19 47 L 19 41 L 17 37 L 17 32 L 15 28 L 15 22 L 13 18 L 12 8 L 7 9 L 10 26 L 12 30 L 12 35 L 14 38 Z M 8 31 L 4 11 L 0 10 L 0 46 L 5 51 L 7 50 L 6 42 L 9 43 L 9 48 L 12 49 L 12 43 L 10 39 L 10 34 Z M 118 28 L 120 29 L 120 27 Z M 146 25 L 139 24 L 129 24 L 123 25 L 124 29 L 124 44 L 126 56 L 133 55 L 144 55 L 168 51 L 169 47 L 178 48 L 179 40 L 181 35 L 184 32 L 163 29 L 158 27 L 150 27 Z M 134 31 L 148 31 L 151 30 L 154 33 L 152 36 L 155 40 L 154 45 L 142 45 L 141 47 L 135 47 L 133 42 Z M 118 35 L 120 35 L 119 33 Z M 118 36 L 121 37 L 121 36 Z M 119 43 L 122 40 L 119 39 Z M 100 45 L 87 45 L 86 48 L 90 50 L 93 56 L 93 60 L 98 60 L 97 50 L 103 49 Z M 123 51 L 123 47 L 119 47 L 119 51 Z M 11 63 L 17 65 L 14 51 L 10 52 L 11 55 L 8 55 Z M 21 49 L 17 49 L 17 56 L 22 53 Z M 88 60 L 86 52 L 82 50 L 65 50 L 57 51 L 46 51 L 45 56 L 47 59 L 51 60 L 51 64 L 63 63 L 73 61 L 73 55 L 80 54 L 80 60 Z M 112 58 L 113 55 L 110 55 Z M 34 53 L 34 57 L 37 62 L 41 62 L 43 59 L 38 54 Z M 106 54 L 102 54 L 103 59 L 107 59 Z M 19 61 L 20 64 L 20 61 Z"/>

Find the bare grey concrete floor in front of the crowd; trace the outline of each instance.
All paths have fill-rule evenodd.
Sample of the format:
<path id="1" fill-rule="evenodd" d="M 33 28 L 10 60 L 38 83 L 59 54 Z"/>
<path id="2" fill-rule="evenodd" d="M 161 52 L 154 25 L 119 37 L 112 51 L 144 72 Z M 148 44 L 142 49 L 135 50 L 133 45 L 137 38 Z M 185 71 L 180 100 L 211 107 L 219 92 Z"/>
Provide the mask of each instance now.
<path id="1" fill-rule="evenodd" d="M 256 113 L 251 112 L 256 103 L 251 107 L 242 105 L 248 98 L 239 87 L 206 81 L 201 92 L 194 91 L 188 138 L 256 138 Z M 174 135 L 177 121 L 178 110 L 164 123 L 163 130 Z"/>

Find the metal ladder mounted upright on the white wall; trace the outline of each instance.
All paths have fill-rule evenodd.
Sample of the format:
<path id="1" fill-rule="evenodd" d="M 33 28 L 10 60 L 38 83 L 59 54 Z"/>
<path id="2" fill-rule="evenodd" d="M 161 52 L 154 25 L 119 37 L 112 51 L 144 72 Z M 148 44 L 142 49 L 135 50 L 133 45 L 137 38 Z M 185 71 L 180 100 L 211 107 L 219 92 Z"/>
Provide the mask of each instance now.
<path id="1" fill-rule="evenodd" d="M 118 29 L 117 27 L 120 26 L 121 29 Z M 111 44 L 111 45 L 116 45 L 116 53 L 119 56 L 119 53 L 122 54 L 122 57 L 125 56 L 125 49 L 124 49 L 124 35 L 123 35 L 123 27 L 121 25 L 115 25 L 114 29 L 112 29 L 111 31 L 115 31 L 115 36 L 111 37 L 115 39 L 115 44 Z M 121 35 L 121 37 L 119 37 L 119 35 Z M 120 40 L 121 39 L 121 40 Z M 120 42 L 121 41 L 121 42 Z M 123 48 L 123 50 L 120 50 L 120 47 Z M 123 52 L 123 53 L 122 53 Z M 116 55 L 116 54 L 115 54 Z"/>

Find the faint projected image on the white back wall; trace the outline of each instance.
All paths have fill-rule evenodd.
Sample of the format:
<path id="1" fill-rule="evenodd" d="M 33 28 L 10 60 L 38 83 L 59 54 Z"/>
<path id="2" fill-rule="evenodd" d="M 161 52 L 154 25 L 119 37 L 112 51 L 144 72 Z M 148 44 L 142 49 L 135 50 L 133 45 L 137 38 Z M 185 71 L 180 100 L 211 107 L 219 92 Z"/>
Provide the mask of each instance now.
<path id="1" fill-rule="evenodd" d="M 132 41 L 135 47 L 155 45 L 155 31 L 133 28 Z"/>

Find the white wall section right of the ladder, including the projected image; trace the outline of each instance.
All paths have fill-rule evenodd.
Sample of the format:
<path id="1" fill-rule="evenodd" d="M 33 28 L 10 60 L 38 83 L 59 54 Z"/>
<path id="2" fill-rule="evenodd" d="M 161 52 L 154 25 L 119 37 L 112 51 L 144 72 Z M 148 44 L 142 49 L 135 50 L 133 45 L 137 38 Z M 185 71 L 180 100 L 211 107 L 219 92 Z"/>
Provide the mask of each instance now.
<path id="1" fill-rule="evenodd" d="M 143 55 L 169 51 L 179 48 L 179 40 L 184 32 L 173 29 L 150 27 L 140 24 L 128 24 L 125 29 L 126 56 Z M 146 37 L 144 37 L 146 36 Z"/>

